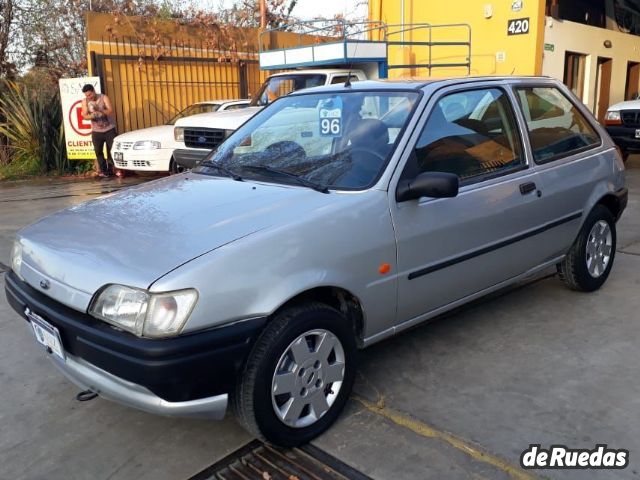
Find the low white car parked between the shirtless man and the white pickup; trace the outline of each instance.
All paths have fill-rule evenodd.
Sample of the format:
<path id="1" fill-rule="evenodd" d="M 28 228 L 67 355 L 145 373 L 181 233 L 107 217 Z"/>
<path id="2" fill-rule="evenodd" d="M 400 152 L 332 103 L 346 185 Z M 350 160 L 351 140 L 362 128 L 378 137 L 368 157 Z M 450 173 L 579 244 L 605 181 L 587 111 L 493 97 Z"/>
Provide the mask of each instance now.
<path id="1" fill-rule="evenodd" d="M 173 171 L 173 151 L 184 147 L 173 135 L 173 126 L 181 118 L 200 113 L 225 112 L 243 109 L 249 100 L 211 100 L 195 103 L 169 120 L 165 125 L 143 128 L 118 135 L 111 149 L 117 168 L 141 171 Z"/>

